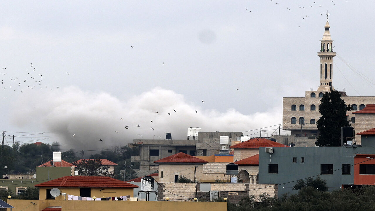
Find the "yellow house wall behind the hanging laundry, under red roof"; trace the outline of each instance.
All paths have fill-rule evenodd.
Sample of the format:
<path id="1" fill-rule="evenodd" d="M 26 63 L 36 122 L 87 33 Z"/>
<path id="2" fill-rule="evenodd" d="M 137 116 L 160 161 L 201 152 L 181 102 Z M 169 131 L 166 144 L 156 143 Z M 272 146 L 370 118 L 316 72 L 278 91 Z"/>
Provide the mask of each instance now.
<path id="1" fill-rule="evenodd" d="M 40 187 L 39 188 L 39 199 L 43 200 L 46 197 L 46 190 L 52 189 L 53 187 Z M 80 188 L 58 188 L 61 193 L 66 193 L 66 200 L 68 200 L 68 194 L 74 196 L 80 196 Z M 116 196 L 127 196 L 133 197 L 133 188 L 104 188 L 104 190 L 100 191 L 102 188 L 91 188 L 91 197 L 95 196 L 97 198 L 102 197 L 116 197 Z M 64 196 L 60 194 L 57 196 L 55 200 L 64 200 Z"/>

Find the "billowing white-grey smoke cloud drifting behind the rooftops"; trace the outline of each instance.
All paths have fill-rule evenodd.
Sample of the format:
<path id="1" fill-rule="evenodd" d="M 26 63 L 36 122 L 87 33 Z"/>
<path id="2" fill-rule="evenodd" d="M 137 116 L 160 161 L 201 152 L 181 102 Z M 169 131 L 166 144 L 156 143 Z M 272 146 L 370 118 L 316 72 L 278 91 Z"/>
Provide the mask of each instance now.
<path id="1" fill-rule="evenodd" d="M 188 127 L 240 132 L 267 127 L 281 122 L 281 108 L 244 115 L 234 109 L 201 110 L 199 105 L 186 102 L 183 95 L 160 87 L 127 101 L 110 93 L 65 87 L 20 99 L 12 116 L 18 126 L 40 125 L 56 135 L 52 141 L 88 150 L 126 145 L 133 139 L 164 139 L 165 133 L 171 133 L 172 139 L 186 139 Z M 244 135 L 250 133 L 255 131 Z"/>

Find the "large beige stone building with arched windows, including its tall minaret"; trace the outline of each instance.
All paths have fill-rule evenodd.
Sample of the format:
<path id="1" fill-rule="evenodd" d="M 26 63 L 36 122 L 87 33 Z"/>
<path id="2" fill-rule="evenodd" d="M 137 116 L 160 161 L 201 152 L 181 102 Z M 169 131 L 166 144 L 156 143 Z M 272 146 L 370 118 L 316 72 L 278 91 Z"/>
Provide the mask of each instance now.
<path id="1" fill-rule="evenodd" d="M 294 137 L 310 137 L 313 138 L 319 134 L 316 122 L 320 118 L 319 105 L 320 99 L 325 92 L 335 90 L 333 88 L 333 57 L 336 53 L 332 51 L 332 42 L 330 34 L 330 26 L 327 22 L 324 26 L 323 39 L 321 39 L 320 52 L 320 83 L 317 90 L 305 91 L 304 97 L 284 97 L 283 98 L 283 130 L 291 131 L 291 136 Z M 341 98 L 344 99 L 345 104 L 351 105 L 354 110 L 347 112 L 348 121 L 355 130 L 355 134 L 375 128 L 375 111 L 371 109 L 369 112 L 363 110 L 367 104 L 375 104 L 375 96 L 348 96 L 345 91 L 340 92 Z M 363 110 L 358 112 L 359 110 Z M 357 116 L 361 115 L 362 119 L 366 121 L 359 121 Z M 362 116 L 365 115 L 365 118 Z M 370 119 L 369 119 L 370 118 Z M 288 142 L 291 142 L 289 140 Z M 292 141 L 293 142 L 293 141 Z M 357 144 L 360 144 L 360 136 L 356 136 Z M 294 142 L 296 143 L 296 142 Z"/>

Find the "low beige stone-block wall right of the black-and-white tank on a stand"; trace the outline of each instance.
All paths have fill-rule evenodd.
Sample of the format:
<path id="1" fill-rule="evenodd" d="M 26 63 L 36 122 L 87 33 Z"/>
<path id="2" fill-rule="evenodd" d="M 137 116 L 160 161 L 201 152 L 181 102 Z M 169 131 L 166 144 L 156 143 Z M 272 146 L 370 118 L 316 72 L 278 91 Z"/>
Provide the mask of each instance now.
<path id="1" fill-rule="evenodd" d="M 202 196 L 199 192 L 202 183 L 197 183 L 196 189 L 198 196 Z M 260 194 L 267 193 L 270 196 L 278 196 L 278 186 L 275 184 L 246 184 L 246 183 L 205 183 L 210 186 L 210 192 L 219 191 L 219 197 L 226 197 L 233 203 L 238 203 L 243 197 L 254 195 L 259 197 Z M 185 201 L 195 197 L 195 183 L 160 183 L 158 186 L 157 200 Z M 207 193 L 207 190 L 205 190 Z M 199 197 L 198 197 L 199 198 Z M 198 199 L 199 200 L 199 199 Z"/>

